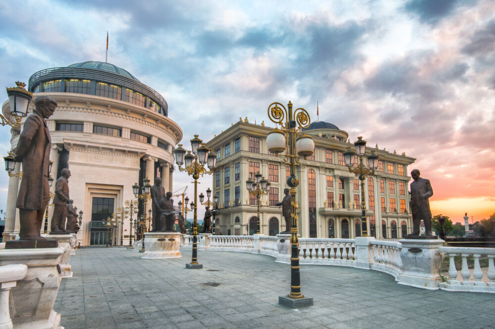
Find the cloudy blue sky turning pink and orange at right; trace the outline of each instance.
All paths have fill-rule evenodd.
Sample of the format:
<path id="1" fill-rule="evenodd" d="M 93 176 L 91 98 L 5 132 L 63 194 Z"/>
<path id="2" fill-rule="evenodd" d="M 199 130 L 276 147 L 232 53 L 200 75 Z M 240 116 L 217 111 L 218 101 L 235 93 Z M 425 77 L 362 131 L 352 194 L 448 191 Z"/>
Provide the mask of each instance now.
<path id="1" fill-rule="evenodd" d="M 352 142 L 416 158 L 434 215 L 495 212 L 495 1 L 1 1 L 0 30 L 5 87 L 104 61 L 108 31 L 108 62 L 165 97 L 187 148 L 291 100 Z M 191 181 L 174 172 L 190 198 Z M 2 209 L 7 185 L 0 175 Z"/>

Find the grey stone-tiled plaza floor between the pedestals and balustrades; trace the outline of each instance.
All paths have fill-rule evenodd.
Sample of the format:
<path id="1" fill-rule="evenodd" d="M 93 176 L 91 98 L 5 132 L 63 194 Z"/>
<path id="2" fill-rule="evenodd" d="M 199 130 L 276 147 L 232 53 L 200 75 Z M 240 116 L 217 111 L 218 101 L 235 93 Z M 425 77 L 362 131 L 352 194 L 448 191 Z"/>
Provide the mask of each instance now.
<path id="1" fill-rule="evenodd" d="M 182 258 L 142 259 L 137 249 L 82 248 L 74 277 L 62 279 L 55 311 L 73 328 L 495 328 L 495 295 L 429 291 L 388 274 L 339 266 L 301 266 L 314 306 L 278 304 L 290 267 L 242 252 L 198 251 L 203 269 Z"/>

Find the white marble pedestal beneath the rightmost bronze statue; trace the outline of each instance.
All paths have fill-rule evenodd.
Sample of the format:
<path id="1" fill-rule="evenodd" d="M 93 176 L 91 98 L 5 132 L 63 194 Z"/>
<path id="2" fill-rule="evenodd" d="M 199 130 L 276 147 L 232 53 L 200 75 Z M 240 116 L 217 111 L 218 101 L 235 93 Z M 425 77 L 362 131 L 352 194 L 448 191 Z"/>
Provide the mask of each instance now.
<path id="1" fill-rule="evenodd" d="M 440 268 L 444 261 L 443 253 L 438 248 L 444 245 L 444 240 L 402 239 L 400 259 L 404 272 L 398 277 L 398 284 L 437 290 L 442 282 Z"/>

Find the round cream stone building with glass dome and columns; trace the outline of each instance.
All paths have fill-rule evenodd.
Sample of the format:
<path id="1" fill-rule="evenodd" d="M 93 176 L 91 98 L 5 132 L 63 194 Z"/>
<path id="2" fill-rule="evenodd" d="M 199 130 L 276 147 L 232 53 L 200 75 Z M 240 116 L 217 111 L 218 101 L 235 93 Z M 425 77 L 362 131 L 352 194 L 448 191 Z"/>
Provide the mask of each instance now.
<path id="1" fill-rule="evenodd" d="M 144 186 L 143 179 L 148 177 L 152 185 L 160 176 L 165 189 L 172 190 L 172 152 L 182 139 L 182 129 L 168 118 L 167 102 L 154 89 L 115 65 L 90 61 L 36 72 L 29 79 L 28 90 L 34 93 L 29 112 L 41 95 L 58 103 L 47 120 L 51 176 L 56 180 L 62 168 L 71 171 L 70 198 L 78 211 L 84 211 L 78 233 L 81 246 L 106 244 L 102 220 L 115 214 L 126 200 L 136 200 L 135 183 Z M 10 116 L 8 101 L 3 103 L 2 113 Z M 11 129 L 12 149 L 21 130 L 22 124 Z M 16 164 L 19 170 L 21 165 Z M 4 240 L 13 239 L 19 230 L 15 208 L 19 183 L 17 177 L 10 177 Z M 138 215 L 148 216 L 149 207 L 149 201 L 146 209 L 140 202 Z M 49 206 L 49 220 L 51 211 Z M 136 217 L 133 214 L 133 219 Z M 128 244 L 130 220 L 114 232 L 118 244 L 122 232 L 123 242 Z"/>

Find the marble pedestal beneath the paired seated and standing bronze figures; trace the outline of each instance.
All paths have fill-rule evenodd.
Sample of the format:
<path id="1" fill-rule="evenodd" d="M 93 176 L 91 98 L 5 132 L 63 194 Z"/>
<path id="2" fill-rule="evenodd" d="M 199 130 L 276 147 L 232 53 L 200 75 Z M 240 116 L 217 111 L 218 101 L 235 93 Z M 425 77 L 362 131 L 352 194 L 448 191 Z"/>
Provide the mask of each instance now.
<path id="1" fill-rule="evenodd" d="M 179 258 L 182 257 L 179 247 L 181 246 L 181 234 L 177 232 L 150 232 L 145 233 L 146 259 Z"/>

